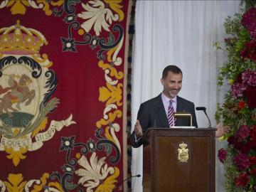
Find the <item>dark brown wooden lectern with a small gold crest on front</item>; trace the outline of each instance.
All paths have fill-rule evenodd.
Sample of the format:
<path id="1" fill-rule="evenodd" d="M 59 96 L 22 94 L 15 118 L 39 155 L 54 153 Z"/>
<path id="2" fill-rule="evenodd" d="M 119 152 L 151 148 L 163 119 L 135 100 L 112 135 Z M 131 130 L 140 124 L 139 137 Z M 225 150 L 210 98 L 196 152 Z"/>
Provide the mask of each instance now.
<path id="1" fill-rule="evenodd" d="M 148 129 L 143 149 L 143 191 L 215 192 L 215 130 Z"/>

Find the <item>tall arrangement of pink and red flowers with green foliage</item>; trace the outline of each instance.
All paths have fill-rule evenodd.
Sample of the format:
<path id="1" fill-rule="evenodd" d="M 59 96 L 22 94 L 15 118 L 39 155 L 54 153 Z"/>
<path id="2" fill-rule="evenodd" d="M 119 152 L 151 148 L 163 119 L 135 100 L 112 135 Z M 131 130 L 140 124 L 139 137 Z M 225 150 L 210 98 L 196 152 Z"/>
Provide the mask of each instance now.
<path id="1" fill-rule="evenodd" d="M 228 145 L 218 151 L 228 192 L 256 191 L 256 1 L 247 2 L 242 19 L 236 14 L 225 21 L 228 61 L 218 78 L 219 85 L 224 79 L 232 84 L 215 116 L 231 127 Z"/>

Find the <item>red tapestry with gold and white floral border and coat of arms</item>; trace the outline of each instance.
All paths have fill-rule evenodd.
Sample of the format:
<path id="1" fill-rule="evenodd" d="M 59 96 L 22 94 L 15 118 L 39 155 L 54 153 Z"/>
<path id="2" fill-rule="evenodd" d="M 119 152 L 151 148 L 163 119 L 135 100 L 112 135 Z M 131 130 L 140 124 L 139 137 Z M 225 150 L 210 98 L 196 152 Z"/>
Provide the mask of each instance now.
<path id="1" fill-rule="evenodd" d="M 122 191 L 129 1 L 0 1 L 0 191 Z"/>

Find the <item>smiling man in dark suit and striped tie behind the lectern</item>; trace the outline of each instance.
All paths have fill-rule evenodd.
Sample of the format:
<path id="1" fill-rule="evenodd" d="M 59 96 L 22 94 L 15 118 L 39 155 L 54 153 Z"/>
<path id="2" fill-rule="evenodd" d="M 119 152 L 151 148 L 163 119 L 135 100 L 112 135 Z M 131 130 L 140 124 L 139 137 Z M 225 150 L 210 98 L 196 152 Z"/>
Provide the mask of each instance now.
<path id="1" fill-rule="evenodd" d="M 173 127 L 190 126 L 189 119 L 174 119 L 174 112 L 190 112 L 192 114 L 192 124 L 198 127 L 196 122 L 195 105 L 193 102 L 178 97 L 178 92 L 182 87 L 183 74 L 176 65 L 169 65 L 164 68 L 161 84 L 164 86 L 163 92 L 157 97 L 148 100 L 139 107 L 137 122 L 130 137 L 133 147 L 143 144 L 143 135 L 149 127 Z"/>

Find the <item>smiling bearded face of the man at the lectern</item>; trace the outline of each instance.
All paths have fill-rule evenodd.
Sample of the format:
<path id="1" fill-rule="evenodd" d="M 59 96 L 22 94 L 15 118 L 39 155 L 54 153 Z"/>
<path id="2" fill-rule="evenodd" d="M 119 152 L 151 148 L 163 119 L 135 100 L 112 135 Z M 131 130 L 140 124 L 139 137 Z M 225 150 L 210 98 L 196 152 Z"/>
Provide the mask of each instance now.
<path id="1" fill-rule="evenodd" d="M 182 74 L 169 71 L 167 77 L 161 79 L 161 84 L 164 86 L 164 95 L 169 99 L 174 99 L 182 87 Z"/>

